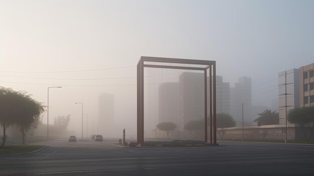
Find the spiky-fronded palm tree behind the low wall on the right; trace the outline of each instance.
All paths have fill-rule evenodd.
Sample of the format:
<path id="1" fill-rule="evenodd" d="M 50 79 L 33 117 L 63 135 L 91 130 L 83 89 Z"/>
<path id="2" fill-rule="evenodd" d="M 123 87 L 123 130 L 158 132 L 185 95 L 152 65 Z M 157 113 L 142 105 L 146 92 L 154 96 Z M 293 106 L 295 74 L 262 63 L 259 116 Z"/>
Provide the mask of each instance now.
<path id="1" fill-rule="evenodd" d="M 266 109 L 262 113 L 258 113 L 258 118 L 254 122 L 260 122 L 261 125 L 279 124 L 279 113 L 276 110 Z"/>

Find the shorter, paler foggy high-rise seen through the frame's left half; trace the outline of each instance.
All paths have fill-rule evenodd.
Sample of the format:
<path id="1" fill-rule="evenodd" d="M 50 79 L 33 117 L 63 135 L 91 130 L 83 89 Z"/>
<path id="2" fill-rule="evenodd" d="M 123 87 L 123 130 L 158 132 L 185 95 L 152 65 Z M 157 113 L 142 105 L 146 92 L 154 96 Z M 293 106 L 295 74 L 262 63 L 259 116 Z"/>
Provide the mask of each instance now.
<path id="1" fill-rule="evenodd" d="M 159 87 L 159 122 L 173 122 L 179 126 L 179 82 L 162 83 Z"/>

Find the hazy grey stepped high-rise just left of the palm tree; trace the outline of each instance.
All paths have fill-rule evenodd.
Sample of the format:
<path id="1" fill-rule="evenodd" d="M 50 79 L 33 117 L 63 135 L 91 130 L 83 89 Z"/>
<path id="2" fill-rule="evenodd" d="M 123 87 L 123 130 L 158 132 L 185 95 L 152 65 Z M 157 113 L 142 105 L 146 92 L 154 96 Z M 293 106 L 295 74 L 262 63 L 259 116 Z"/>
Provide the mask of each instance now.
<path id="1" fill-rule="evenodd" d="M 253 121 L 250 77 L 239 77 L 239 81 L 235 83 L 234 87 L 230 88 L 230 114 L 237 121 L 237 125 L 242 125 L 242 103 L 244 121 Z"/>

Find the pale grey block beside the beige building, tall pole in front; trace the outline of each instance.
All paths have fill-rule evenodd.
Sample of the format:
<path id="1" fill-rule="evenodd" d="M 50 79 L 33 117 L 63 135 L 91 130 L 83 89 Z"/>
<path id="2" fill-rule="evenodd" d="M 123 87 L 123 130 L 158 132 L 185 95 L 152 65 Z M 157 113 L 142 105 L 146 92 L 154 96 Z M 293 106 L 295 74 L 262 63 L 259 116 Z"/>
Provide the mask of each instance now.
<path id="1" fill-rule="evenodd" d="M 289 69 L 278 74 L 278 98 L 279 124 L 285 124 L 286 112 L 299 107 L 299 69 Z"/>

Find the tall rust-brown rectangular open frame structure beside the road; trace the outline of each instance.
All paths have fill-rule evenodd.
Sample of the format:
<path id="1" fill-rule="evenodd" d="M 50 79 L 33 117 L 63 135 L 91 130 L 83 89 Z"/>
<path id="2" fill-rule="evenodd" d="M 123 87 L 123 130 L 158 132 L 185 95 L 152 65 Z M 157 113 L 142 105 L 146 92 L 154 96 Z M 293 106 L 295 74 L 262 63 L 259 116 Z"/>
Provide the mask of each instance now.
<path id="1" fill-rule="evenodd" d="M 193 64 L 203 65 L 203 67 L 149 65 L 144 62 L 173 63 L 173 64 Z M 137 63 L 137 143 L 144 143 L 144 67 L 148 68 L 168 68 L 182 70 L 203 70 L 205 86 L 205 142 L 208 142 L 207 129 L 207 70 L 209 69 L 209 97 L 210 97 L 210 143 L 217 144 L 216 139 L 216 61 L 174 59 L 141 56 Z"/>

